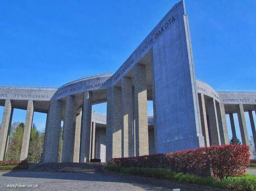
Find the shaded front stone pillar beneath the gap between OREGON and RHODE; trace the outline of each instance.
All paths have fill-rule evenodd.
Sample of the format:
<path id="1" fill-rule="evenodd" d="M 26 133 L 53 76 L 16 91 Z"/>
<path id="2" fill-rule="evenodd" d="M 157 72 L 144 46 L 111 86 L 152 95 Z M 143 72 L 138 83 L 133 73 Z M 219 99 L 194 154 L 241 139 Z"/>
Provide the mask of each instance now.
<path id="1" fill-rule="evenodd" d="M 75 97 L 67 96 L 63 123 L 62 163 L 72 163 L 74 154 L 74 106 Z"/>

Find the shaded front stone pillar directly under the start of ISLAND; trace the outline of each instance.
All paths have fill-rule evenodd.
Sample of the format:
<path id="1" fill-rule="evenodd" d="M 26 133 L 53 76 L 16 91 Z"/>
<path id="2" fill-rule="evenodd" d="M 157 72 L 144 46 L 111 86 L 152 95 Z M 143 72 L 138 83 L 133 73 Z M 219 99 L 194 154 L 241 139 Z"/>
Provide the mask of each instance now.
<path id="1" fill-rule="evenodd" d="M 90 157 L 90 130 L 91 130 L 91 105 L 92 93 L 84 94 L 84 107 L 82 112 L 82 129 L 80 143 L 80 163 L 89 162 Z"/>

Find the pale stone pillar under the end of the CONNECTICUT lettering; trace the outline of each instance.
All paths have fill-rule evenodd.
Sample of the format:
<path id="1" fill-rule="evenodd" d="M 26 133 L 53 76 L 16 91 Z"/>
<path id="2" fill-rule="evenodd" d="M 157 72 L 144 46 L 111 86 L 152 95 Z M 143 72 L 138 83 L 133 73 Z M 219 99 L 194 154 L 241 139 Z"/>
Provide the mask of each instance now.
<path id="1" fill-rule="evenodd" d="M 236 105 L 236 111 L 237 111 L 237 117 L 238 117 L 238 122 L 239 122 L 243 145 L 250 145 L 247 128 L 246 128 L 246 121 L 245 121 L 245 117 L 244 117 L 243 104 Z"/>

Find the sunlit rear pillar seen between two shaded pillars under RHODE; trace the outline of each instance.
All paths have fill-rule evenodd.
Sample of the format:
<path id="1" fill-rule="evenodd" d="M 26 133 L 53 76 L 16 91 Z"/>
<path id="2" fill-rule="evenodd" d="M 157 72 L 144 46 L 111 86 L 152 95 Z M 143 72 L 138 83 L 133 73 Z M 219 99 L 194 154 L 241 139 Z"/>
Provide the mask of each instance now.
<path id="1" fill-rule="evenodd" d="M 76 116 L 73 163 L 79 163 L 81 118 L 82 118 L 82 111 L 80 112 L 79 115 Z"/>

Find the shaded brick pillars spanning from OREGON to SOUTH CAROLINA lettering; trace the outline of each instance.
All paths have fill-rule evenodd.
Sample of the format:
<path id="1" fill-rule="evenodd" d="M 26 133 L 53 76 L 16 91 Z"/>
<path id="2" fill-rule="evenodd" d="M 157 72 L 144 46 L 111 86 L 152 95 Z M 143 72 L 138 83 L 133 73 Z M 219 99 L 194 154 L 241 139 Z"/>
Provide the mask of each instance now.
<path id="1" fill-rule="evenodd" d="M 121 87 L 113 86 L 107 90 L 107 159 L 149 153 L 145 65 L 136 64 L 134 71 L 134 87 L 132 87 L 130 77 L 122 77 Z M 91 128 L 92 92 L 84 93 L 81 123 L 76 116 L 77 112 L 74 105 L 75 97 L 67 96 L 63 126 L 62 162 L 73 162 L 78 155 L 79 162 L 89 162 L 94 155 L 95 142 L 95 127 Z M 51 101 L 45 140 L 45 163 L 57 162 L 61 115 L 62 101 Z M 76 123 L 74 124 L 75 117 Z M 80 132 L 77 130 L 79 124 L 81 124 Z M 80 145 L 80 149 L 78 145 Z"/>

